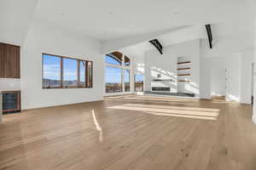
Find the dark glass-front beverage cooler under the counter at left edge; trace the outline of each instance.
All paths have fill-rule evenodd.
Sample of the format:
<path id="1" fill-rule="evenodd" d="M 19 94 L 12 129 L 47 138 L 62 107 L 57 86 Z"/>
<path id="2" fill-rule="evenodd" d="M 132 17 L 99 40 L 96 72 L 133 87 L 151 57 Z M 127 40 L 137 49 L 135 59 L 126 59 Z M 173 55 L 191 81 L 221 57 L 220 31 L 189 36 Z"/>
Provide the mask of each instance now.
<path id="1" fill-rule="evenodd" d="M 3 113 L 20 112 L 20 91 L 3 91 Z"/>

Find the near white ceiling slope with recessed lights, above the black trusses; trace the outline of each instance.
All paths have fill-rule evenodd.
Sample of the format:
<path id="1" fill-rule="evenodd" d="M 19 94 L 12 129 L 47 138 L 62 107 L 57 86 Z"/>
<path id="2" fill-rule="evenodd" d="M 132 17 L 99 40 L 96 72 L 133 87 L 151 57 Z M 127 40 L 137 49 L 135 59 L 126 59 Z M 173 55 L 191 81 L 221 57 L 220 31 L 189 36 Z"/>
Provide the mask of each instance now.
<path id="1" fill-rule="evenodd" d="M 38 0 L 35 19 L 100 41 L 246 18 L 243 0 Z"/>

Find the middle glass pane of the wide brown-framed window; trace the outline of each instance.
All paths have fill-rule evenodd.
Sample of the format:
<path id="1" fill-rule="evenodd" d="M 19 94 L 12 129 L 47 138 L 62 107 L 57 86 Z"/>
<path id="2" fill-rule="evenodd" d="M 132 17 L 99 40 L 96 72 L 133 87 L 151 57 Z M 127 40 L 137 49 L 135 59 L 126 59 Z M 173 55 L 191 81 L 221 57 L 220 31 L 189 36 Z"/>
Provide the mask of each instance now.
<path id="1" fill-rule="evenodd" d="M 78 86 L 78 60 L 63 58 L 63 88 Z"/>

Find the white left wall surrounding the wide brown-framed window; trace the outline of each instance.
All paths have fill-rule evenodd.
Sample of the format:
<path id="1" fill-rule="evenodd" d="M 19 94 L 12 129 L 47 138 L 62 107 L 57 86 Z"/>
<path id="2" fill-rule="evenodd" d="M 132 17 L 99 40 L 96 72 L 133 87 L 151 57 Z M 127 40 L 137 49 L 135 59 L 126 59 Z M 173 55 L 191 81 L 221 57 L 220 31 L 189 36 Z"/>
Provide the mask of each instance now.
<path id="1" fill-rule="evenodd" d="M 21 109 L 66 105 L 102 99 L 103 58 L 100 42 L 55 26 L 34 22 L 20 59 Z M 43 89 L 42 53 L 92 60 L 93 88 Z"/>

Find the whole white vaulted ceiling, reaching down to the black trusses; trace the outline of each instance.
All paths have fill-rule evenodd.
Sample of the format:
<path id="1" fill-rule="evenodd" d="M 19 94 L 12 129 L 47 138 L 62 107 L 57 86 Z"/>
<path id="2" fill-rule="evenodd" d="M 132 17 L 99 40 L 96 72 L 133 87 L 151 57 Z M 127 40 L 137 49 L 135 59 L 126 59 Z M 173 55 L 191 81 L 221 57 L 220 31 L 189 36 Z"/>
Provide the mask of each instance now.
<path id="1" fill-rule="evenodd" d="M 2 0 L 0 40 L 21 43 L 32 19 L 102 42 L 102 52 L 148 42 L 163 45 L 252 31 L 252 0 Z M 250 20 L 250 21 L 248 21 Z M 228 23 L 227 23 L 228 22 Z M 251 28 L 251 29 L 250 29 Z M 148 48 L 147 45 L 143 47 Z M 150 47 L 150 46 L 149 46 Z"/>

